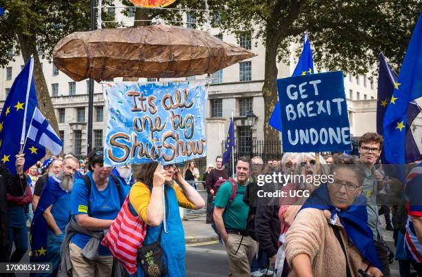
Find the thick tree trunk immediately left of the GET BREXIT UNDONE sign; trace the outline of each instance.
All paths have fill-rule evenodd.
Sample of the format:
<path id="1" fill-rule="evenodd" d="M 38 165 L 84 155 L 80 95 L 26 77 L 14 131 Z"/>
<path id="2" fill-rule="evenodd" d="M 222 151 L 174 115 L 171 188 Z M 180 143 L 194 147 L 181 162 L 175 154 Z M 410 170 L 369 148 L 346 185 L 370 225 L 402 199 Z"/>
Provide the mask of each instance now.
<path id="1" fill-rule="evenodd" d="M 265 43 L 265 79 L 262 87 L 262 95 L 264 100 L 264 139 L 265 141 L 279 141 L 280 132 L 270 126 L 268 123 L 272 111 L 277 104 L 277 48 L 279 46 L 278 41 L 275 39 L 268 39 Z"/>

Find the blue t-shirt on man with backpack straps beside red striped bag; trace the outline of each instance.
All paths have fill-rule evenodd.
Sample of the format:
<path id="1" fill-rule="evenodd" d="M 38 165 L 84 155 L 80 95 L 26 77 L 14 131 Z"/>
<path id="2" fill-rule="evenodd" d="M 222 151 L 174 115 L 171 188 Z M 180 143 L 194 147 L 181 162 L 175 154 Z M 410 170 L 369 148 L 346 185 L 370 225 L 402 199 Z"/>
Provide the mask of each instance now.
<path id="1" fill-rule="evenodd" d="M 108 177 L 106 189 L 99 191 L 92 179 L 92 172 L 86 174 L 90 177 L 91 193 L 88 205 L 88 189 L 86 189 L 83 179 L 79 178 L 73 185 L 71 196 L 72 216 L 76 214 L 88 214 L 90 217 L 99 219 L 114 219 L 120 211 L 121 205 L 128 195 L 126 186 L 120 185 L 120 195 L 116 184 L 111 177 Z M 83 249 L 90 241 L 91 237 L 84 234 L 74 234 L 72 243 Z M 110 256 L 110 250 L 103 245 L 99 246 L 100 256 Z"/>

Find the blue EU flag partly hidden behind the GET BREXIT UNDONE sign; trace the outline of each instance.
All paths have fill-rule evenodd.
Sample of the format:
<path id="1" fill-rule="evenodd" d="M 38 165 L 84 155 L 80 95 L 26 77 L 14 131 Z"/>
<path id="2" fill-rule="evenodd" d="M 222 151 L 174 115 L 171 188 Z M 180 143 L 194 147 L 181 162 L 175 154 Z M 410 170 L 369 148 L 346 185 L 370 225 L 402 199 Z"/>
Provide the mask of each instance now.
<path id="1" fill-rule="evenodd" d="M 299 57 L 299 61 L 297 62 L 296 68 L 294 68 L 292 76 L 300 76 L 314 73 L 314 60 L 312 59 L 312 50 L 310 48 L 308 34 L 305 34 L 305 36 L 303 37 L 303 41 L 304 43 L 302 54 L 301 57 Z M 281 132 L 280 101 L 277 102 L 274 107 L 274 111 L 272 111 L 269 124 L 271 127 Z"/>

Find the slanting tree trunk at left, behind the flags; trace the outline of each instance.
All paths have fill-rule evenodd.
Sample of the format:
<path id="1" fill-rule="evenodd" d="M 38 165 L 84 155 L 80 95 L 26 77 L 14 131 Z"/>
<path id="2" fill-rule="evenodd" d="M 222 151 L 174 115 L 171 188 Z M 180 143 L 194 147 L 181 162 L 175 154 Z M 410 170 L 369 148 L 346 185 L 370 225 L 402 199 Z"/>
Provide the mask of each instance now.
<path id="1" fill-rule="evenodd" d="M 56 114 L 54 113 L 54 107 L 48 93 L 47 82 L 44 78 L 43 69 L 41 68 L 41 63 L 39 61 L 39 55 L 37 51 L 37 43 L 34 39 L 35 36 L 26 36 L 20 30 L 17 31 L 19 45 L 21 46 L 21 52 L 23 60 L 28 62 L 31 55 L 34 55 L 34 81 L 35 89 L 37 90 L 37 98 L 39 110 L 41 113 L 46 116 L 48 122 L 54 129 L 54 131 L 59 134 L 59 125 L 57 124 Z"/>

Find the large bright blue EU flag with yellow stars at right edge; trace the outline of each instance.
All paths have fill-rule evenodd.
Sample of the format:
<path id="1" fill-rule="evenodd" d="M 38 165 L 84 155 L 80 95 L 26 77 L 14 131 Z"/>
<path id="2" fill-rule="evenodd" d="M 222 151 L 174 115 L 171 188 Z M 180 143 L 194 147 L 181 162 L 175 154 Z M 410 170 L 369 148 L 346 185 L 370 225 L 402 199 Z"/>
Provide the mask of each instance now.
<path id="1" fill-rule="evenodd" d="M 422 96 L 422 14 L 414 28 L 394 92 L 383 119 L 384 155 L 388 163 L 405 163 L 409 102 Z"/>

